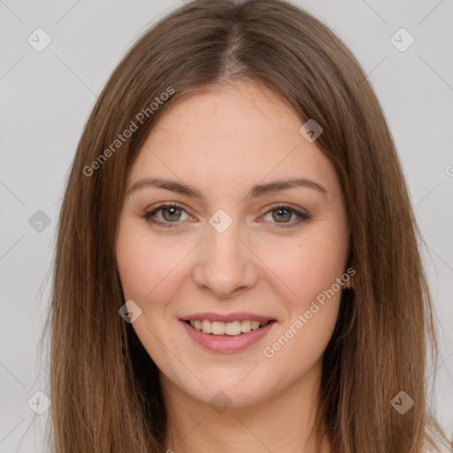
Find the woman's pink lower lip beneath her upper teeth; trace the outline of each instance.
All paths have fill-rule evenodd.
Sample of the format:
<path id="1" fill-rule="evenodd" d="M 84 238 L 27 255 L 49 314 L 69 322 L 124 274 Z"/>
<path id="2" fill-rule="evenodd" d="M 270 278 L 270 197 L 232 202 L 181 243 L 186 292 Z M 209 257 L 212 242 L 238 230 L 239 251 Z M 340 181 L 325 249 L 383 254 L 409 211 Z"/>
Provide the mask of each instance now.
<path id="1" fill-rule="evenodd" d="M 256 330 L 250 330 L 247 334 L 213 335 L 205 334 L 201 330 L 196 330 L 195 327 L 190 326 L 185 321 L 180 322 L 187 330 L 190 337 L 200 346 L 203 346 L 203 348 L 209 349 L 213 352 L 221 352 L 225 354 L 246 349 L 250 345 L 258 342 L 269 332 L 269 330 L 273 328 L 273 325 L 276 323 L 276 321 L 269 321 L 265 326 L 262 326 Z"/>

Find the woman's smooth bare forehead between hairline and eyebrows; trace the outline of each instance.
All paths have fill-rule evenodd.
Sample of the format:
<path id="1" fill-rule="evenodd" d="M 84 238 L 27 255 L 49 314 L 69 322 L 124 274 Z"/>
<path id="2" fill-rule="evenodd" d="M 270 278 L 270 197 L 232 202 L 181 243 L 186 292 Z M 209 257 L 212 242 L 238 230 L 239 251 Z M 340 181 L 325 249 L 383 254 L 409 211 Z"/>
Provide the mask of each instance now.
<path id="1" fill-rule="evenodd" d="M 299 133 L 302 124 L 288 104 L 262 85 L 242 83 L 182 98 L 150 132 L 130 182 L 161 176 L 231 190 L 262 180 L 306 177 L 338 188 L 334 168 L 316 142 Z"/>

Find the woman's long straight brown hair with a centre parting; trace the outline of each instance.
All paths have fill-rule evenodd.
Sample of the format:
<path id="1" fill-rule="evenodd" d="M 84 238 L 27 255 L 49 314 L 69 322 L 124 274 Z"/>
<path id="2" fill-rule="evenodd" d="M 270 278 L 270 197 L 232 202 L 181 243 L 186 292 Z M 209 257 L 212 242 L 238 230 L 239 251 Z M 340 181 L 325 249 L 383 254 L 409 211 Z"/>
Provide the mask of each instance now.
<path id="1" fill-rule="evenodd" d="M 119 212 L 157 119 L 182 96 L 234 81 L 273 89 L 301 126 L 315 119 L 324 129 L 317 144 L 342 184 L 357 274 L 324 356 L 318 437 L 326 435 L 334 453 L 420 453 L 441 433 L 428 415 L 425 383 L 426 357 L 437 349 L 395 145 L 356 58 L 318 19 L 280 0 L 181 6 L 134 44 L 99 96 L 59 218 L 48 319 L 52 448 L 165 448 L 157 366 L 119 316 Z M 126 129 L 134 130 L 116 142 Z M 391 404 L 401 391 L 415 402 L 403 415 Z"/>

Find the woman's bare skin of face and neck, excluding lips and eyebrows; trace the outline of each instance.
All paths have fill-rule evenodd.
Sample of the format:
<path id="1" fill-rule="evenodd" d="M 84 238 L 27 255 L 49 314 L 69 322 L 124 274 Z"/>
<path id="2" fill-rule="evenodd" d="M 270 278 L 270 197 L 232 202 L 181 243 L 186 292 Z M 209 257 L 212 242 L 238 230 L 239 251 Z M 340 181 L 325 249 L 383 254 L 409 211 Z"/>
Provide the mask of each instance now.
<path id="1" fill-rule="evenodd" d="M 176 453 L 315 451 L 311 429 L 322 357 L 341 290 L 273 357 L 264 354 L 346 271 L 340 182 L 316 142 L 299 133 L 302 124 L 263 86 L 241 82 L 204 90 L 165 112 L 129 175 L 129 188 L 160 177 L 205 196 L 204 204 L 144 186 L 127 196 L 119 219 L 119 276 L 126 301 L 142 310 L 133 327 L 160 370 L 170 421 L 166 448 Z M 244 198 L 255 184 L 301 177 L 326 194 L 289 188 Z M 167 224 L 176 219 L 175 227 L 144 219 L 161 202 L 182 205 L 153 216 Z M 279 203 L 310 219 L 297 223 L 286 211 L 280 219 Z M 233 219 L 223 233 L 209 223 L 219 209 Z M 277 323 L 247 349 L 214 353 L 194 342 L 179 320 L 201 311 L 249 311 Z M 219 391 L 231 402 L 223 413 L 210 403 Z M 328 451 L 324 441 L 321 452 Z"/>

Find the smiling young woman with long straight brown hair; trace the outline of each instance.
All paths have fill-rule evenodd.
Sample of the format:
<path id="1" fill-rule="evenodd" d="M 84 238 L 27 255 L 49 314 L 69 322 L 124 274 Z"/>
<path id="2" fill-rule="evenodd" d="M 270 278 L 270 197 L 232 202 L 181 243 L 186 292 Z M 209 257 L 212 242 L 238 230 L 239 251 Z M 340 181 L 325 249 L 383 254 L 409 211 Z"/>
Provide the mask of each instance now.
<path id="1" fill-rule="evenodd" d="M 436 451 L 417 234 L 326 26 L 276 0 L 182 6 L 111 75 L 73 161 L 55 450 Z"/>

